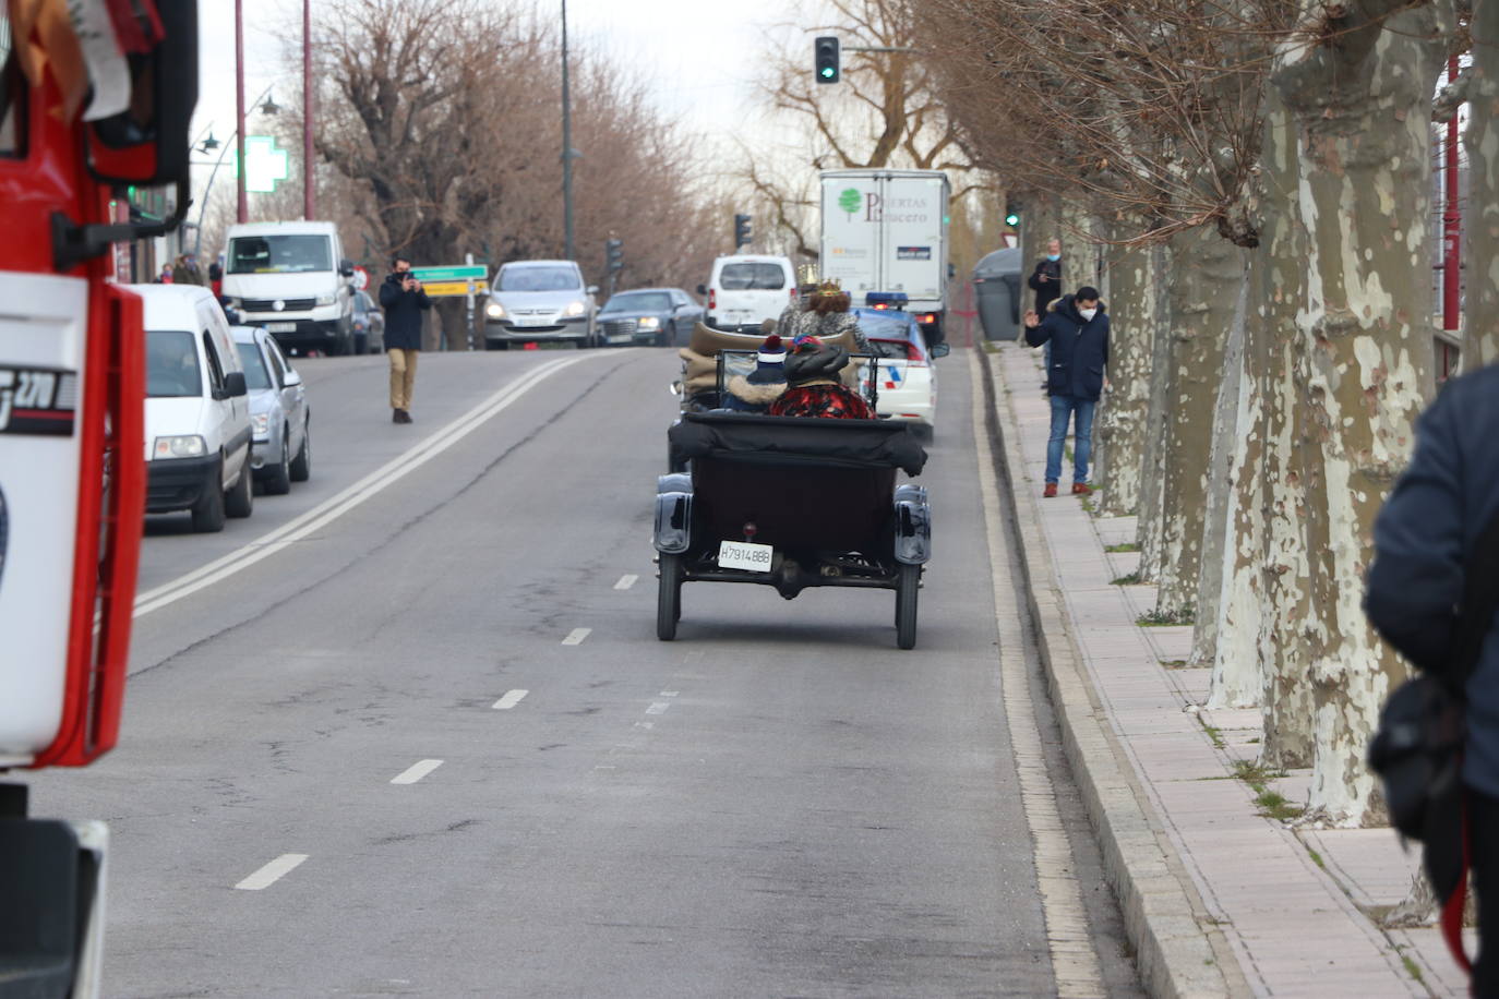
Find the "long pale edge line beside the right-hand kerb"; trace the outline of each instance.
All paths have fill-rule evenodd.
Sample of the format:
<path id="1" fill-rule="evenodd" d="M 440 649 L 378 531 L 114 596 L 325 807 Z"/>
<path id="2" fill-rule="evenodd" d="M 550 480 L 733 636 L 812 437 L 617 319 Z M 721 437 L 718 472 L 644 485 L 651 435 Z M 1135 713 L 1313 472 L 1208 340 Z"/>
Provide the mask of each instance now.
<path id="1" fill-rule="evenodd" d="M 1000 629 L 1000 689 L 1004 717 L 1010 729 L 1010 753 L 1021 782 L 1021 807 L 1031 834 L 1036 887 L 1046 920 L 1052 975 L 1060 999 L 1103 996 L 1099 956 L 1088 933 L 1082 888 L 1073 873 L 1072 845 L 1057 812 L 1057 789 L 1046 771 L 1040 728 L 1030 699 L 1030 664 L 1025 658 L 1025 628 L 1015 584 L 1009 578 L 1009 539 L 1000 524 L 1000 488 L 994 473 L 994 451 L 985 421 L 983 383 L 977 359 L 968 362 L 973 383 L 973 436 L 979 449 L 979 488 L 983 497 L 983 524 L 988 535 L 989 565 L 994 566 L 994 619 Z M 1003 403 L 1001 403 L 1003 404 Z"/>

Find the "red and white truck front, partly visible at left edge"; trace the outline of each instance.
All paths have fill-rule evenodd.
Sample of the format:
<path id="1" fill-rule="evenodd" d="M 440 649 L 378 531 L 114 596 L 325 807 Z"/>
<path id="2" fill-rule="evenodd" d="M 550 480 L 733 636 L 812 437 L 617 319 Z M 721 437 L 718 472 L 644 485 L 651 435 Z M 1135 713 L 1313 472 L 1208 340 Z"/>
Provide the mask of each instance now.
<path id="1" fill-rule="evenodd" d="M 18 777 L 120 728 L 145 377 L 112 250 L 187 210 L 196 46 L 196 0 L 0 1 L 0 999 L 99 989 L 108 830 Z M 177 217 L 130 222 L 127 186 Z"/>

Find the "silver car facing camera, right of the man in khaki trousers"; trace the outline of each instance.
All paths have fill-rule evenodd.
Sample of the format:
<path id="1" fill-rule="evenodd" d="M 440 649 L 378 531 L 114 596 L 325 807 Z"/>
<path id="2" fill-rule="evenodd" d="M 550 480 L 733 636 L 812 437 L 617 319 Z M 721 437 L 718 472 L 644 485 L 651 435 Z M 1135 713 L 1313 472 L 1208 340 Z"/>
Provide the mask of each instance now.
<path id="1" fill-rule="evenodd" d="M 484 346 L 571 341 L 598 346 L 595 285 L 573 261 L 511 261 L 495 276 L 484 306 Z"/>

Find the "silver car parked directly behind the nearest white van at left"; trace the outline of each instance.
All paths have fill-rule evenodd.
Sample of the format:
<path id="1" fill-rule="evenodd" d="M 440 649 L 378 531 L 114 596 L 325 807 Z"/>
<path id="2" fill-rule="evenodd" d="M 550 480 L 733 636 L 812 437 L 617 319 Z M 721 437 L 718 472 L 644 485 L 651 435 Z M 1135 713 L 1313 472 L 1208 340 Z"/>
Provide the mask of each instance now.
<path id="1" fill-rule="evenodd" d="M 271 496 L 291 491 L 312 475 L 312 409 L 301 374 L 286 361 L 271 334 L 234 327 L 234 347 L 250 389 L 250 467 Z"/>

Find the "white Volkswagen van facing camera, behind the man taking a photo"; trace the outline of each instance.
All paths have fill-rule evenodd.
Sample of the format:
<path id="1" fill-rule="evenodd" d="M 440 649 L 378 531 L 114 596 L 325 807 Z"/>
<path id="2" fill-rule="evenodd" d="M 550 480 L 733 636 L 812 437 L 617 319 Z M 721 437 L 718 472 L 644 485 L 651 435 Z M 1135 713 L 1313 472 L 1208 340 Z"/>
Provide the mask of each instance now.
<path id="1" fill-rule="evenodd" d="M 331 222 L 229 226 L 223 294 L 288 350 L 354 352 L 352 276 Z"/>

